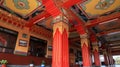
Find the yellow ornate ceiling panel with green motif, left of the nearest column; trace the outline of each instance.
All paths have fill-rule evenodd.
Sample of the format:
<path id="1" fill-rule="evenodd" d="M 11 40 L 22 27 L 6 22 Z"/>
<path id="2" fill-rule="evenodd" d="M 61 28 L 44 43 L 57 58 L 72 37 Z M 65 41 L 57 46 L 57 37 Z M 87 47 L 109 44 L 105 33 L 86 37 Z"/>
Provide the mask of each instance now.
<path id="1" fill-rule="evenodd" d="M 31 15 L 42 6 L 41 0 L 1 0 L 1 6 L 10 12 L 15 12 L 22 17 Z"/>

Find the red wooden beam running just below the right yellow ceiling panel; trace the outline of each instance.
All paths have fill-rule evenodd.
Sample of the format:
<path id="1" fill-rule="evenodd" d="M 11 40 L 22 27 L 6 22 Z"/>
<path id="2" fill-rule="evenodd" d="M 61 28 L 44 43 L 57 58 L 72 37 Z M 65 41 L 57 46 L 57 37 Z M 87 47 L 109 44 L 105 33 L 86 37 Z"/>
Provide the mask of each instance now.
<path id="1" fill-rule="evenodd" d="M 99 23 L 103 23 L 103 22 L 113 20 L 113 19 L 116 19 L 116 18 L 120 18 L 120 12 L 115 13 L 115 14 L 111 14 L 111 15 L 108 15 L 108 16 L 99 17 L 99 18 L 97 18 L 93 21 L 87 22 L 85 25 L 87 27 L 93 27 L 93 26 L 98 25 Z"/>

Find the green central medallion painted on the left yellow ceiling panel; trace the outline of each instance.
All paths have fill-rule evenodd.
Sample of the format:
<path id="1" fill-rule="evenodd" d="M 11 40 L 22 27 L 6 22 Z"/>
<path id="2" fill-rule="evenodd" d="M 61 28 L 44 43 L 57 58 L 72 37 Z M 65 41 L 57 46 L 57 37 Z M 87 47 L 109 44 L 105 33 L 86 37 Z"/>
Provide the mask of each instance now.
<path id="1" fill-rule="evenodd" d="M 13 3 L 17 9 L 29 9 L 28 0 L 13 0 Z"/>

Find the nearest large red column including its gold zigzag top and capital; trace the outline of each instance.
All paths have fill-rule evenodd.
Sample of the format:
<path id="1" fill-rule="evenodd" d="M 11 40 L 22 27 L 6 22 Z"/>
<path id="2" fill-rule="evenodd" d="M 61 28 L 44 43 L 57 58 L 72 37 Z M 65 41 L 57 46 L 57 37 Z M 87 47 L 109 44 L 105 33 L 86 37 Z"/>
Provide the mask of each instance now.
<path id="1" fill-rule="evenodd" d="M 52 67 L 69 67 L 67 22 L 67 18 L 62 15 L 54 20 Z"/>

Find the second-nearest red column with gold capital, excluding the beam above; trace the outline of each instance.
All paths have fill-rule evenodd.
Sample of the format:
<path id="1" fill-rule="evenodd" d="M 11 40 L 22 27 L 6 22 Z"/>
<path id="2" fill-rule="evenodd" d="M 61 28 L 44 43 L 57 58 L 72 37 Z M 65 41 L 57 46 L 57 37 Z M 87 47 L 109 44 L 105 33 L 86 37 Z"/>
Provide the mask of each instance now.
<path id="1" fill-rule="evenodd" d="M 82 34 L 82 35 L 80 35 L 80 37 L 81 37 L 83 66 L 90 67 L 91 66 L 91 56 L 90 56 L 89 40 L 88 40 L 87 34 Z"/>

